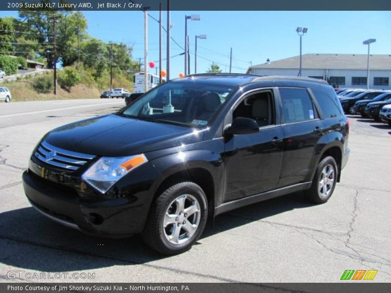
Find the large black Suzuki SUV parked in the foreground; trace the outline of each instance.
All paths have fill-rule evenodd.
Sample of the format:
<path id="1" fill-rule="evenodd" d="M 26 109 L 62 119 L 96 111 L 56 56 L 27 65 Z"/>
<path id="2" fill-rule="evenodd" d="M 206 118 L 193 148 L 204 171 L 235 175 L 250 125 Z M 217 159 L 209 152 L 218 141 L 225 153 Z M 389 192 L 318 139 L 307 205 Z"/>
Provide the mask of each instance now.
<path id="1" fill-rule="evenodd" d="M 174 254 L 190 249 L 208 216 L 299 190 L 325 203 L 348 161 L 348 132 L 325 81 L 191 75 L 47 133 L 23 187 L 63 225 L 141 233 Z"/>

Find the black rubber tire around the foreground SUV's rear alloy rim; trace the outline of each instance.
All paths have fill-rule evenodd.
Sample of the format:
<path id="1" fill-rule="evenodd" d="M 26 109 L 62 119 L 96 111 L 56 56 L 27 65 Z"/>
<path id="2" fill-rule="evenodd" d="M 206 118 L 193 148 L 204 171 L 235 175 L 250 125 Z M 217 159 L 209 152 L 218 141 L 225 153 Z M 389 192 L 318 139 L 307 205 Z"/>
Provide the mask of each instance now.
<path id="1" fill-rule="evenodd" d="M 324 186 L 324 185 L 323 185 L 323 187 L 319 186 L 321 180 L 325 180 L 323 171 L 326 167 L 333 168 L 333 176 L 332 176 L 333 184 L 329 189 L 327 188 L 327 186 Z M 333 157 L 330 157 L 330 156 L 325 157 L 318 164 L 314 179 L 312 180 L 311 188 L 305 190 L 304 194 L 312 202 L 314 202 L 316 204 L 324 204 L 329 200 L 329 198 L 333 194 L 335 185 L 337 184 L 337 178 L 338 178 L 337 163 L 335 162 Z M 328 181 L 327 181 L 327 183 L 328 183 Z"/>

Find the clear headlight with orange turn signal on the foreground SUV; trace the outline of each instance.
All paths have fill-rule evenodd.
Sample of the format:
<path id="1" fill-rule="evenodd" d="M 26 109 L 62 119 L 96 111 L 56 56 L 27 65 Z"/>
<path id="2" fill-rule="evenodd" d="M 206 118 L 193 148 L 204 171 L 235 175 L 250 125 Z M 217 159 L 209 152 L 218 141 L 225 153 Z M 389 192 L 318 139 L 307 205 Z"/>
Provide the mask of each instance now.
<path id="1" fill-rule="evenodd" d="M 147 162 L 144 154 L 122 158 L 102 157 L 87 169 L 82 179 L 99 192 L 105 193 L 131 170 Z"/>

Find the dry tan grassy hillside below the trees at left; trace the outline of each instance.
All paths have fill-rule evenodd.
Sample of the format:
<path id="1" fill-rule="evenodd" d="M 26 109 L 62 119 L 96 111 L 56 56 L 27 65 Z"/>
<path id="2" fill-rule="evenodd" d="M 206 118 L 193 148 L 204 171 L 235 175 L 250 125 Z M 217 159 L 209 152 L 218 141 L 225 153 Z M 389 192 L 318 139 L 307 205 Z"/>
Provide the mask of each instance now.
<path id="1" fill-rule="evenodd" d="M 52 73 L 49 73 L 52 76 Z M 43 101 L 43 100 L 65 100 L 65 99 L 98 99 L 101 92 L 109 90 L 109 76 L 106 74 L 99 81 L 83 78 L 82 82 L 72 86 L 70 91 L 62 89 L 57 86 L 57 95 L 53 92 L 50 93 L 38 93 L 34 90 L 32 84 L 33 80 L 42 78 L 44 75 L 40 75 L 34 78 L 24 78 L 12 82 L 0 83 L 0 86 L 6 86 L 11 91 L 12 102 L 22 101 Z M 85 76 L 85 75 L 84 75 Z M 133 83 L 130 82 L 125 76 L 113 77 L 113 88 L 124 87 L 129 91 L 133 90 Z"/>

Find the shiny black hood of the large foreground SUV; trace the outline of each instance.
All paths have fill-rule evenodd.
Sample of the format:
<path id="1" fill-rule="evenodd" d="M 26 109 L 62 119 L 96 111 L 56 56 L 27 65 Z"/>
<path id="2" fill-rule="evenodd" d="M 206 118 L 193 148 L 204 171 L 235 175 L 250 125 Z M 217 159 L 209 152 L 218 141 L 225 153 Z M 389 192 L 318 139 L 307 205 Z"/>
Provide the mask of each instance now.
<path id="1" fill-rule="evenodd" d="M 194 128 L 108 115 L 58 127 L 43 139 L 71 151 L 120 157 L 195 143 L 203 136 Z"/>

